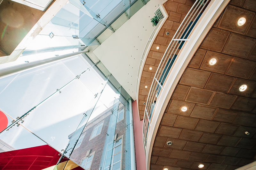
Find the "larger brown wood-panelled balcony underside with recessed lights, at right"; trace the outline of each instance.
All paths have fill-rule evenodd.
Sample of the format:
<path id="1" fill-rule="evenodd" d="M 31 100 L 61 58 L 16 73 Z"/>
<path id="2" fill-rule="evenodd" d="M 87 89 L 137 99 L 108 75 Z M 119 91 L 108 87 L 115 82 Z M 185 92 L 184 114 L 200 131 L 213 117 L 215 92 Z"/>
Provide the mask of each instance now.
<path id="1" fill-rule="evenodd" d="M 256 160 L 255 5 L 232 0 L 196 51 L 165 110 L 150 169 L 231 170 Z"/>

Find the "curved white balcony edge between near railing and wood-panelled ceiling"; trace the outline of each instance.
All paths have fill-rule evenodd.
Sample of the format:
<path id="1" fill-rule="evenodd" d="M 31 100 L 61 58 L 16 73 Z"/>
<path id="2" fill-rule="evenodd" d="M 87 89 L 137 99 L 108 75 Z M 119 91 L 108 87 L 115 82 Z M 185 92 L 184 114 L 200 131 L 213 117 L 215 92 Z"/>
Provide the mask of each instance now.
<path id="1" fill-rule="evenodd" d="M 149 134 L 147 138 L 146 146 L 146 165 L 149 170 L 150 167 L 150 158 L 155 141 L 156 133 L 162 117 L 164 115 L 165 108 L 171 98 L 172 92 L 174 91 L 180 77 L 182 76 L 184 70 L 187 68 L 187 65 L 196 50 L 198 49 L 201 42 L 204 40 L 204 37 L 207 35 L 208 31 L 212 28 L 214 22 L 218 19 L 221 12 L 228 5 L 229 0 L 215 0 L 207 6 L 207 13 L 202 15 L 198 21 L 198 24 L 195 27 L 195 30 L 191 33 L 189 39 L 190 41 L 184 44 L 184 47 L 180 51 L 176 61 L 173 64 L 171 72 L 164 83 L 164 89 L 159 94 L 158 100 L 156 102 L 154 112 L 159 114 L 153 114 L 151 121 L 151 128 L 149 129 Z M 184 50 L 186 49 L 186 50 Z M 153 128 L 155 127 L 155 128 Z"/>

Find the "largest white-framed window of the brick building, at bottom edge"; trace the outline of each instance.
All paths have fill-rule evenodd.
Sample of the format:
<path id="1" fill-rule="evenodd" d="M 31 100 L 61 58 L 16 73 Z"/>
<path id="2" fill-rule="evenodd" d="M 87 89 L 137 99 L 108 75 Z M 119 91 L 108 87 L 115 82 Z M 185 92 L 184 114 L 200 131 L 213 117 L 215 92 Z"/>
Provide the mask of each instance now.
<path id="1" fill-rule="evenodd" d="M 113 151 L 112 151 L 113 147 Z M 111 156 L 112 155 L 112 156 Z M 111 165 L 110 170 L 120 170 L 122 169 L 122 137 L 117 139 L 114 144 L 110 143 L 108 144 L 108 150 L 107 150 L 107 156 L 106 156 L 106 163 L 104 170 L 108 169 L 108 161 L 110 162 L 111 159 Z"/>

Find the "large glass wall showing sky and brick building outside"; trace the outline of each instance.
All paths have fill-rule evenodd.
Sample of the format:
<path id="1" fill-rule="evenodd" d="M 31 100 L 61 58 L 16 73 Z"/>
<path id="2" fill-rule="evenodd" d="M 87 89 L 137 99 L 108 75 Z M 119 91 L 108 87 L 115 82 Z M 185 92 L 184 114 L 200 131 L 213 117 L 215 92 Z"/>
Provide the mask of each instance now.
<path id="1" fill-rule="evenodd" d="M 8 118 L 0 139 L 15 149 L 50 145 L 62 153 L 57 169 L 130 169 L 132 113 L 124 89 L 86 59 L 0 79 L 0 109 Z"/>

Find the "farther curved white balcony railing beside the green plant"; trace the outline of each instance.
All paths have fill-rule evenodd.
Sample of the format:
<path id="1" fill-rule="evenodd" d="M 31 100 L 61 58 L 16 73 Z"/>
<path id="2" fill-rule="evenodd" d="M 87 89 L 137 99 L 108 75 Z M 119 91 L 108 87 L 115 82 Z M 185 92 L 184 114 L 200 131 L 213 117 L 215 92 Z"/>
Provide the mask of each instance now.
<path id="1" fill-rule="evenodd" d="M 136 79 L 136 96 L 138 99 L 138 92 L 139 92 L 139 82 L 140 82 L 140 78 L 141 78 L 141 73 L 143 70 L 143 66 L 145 64 L 145 60 L 147 57 L 145 57 L 146 55 L 148 55 L 148 52 L 156 38 L 157 33 L 159 32 L 159 30 L 161 29 L 161 26 L 163 26 L 164 24 L 164 18 L 167 16 L 164 12 L 164 10 L 161 10 L 161 8 L 157 8 L 157 10 L 155 11 L 155 15 L 159 18 L 159 22 L 157 23 L 156 27 L 154 28 L 153 32 L 151 33 L 148 42 L 144 48 L 144 51 L 142 53 L 141 59 L 140 59 L 140 65 L 139 65 L 139 69 L 138 69 L 138 74 L 137 74 L 137 79 Z"/>

